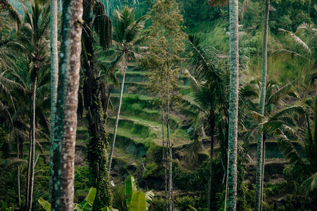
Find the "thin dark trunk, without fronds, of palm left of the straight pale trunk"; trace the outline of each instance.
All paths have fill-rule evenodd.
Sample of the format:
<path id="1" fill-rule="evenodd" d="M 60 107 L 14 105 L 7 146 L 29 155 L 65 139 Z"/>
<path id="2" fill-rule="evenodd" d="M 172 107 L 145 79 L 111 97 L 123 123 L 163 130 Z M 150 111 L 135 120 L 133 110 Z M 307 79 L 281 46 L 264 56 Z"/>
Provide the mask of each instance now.
<path id="1" fill-rule="evenodd" d="M 211 136 L 211 146 L 210 146 L 210 163 L 209 163 L 209 186 L 208 186 L 208 210 L 211 211 L 211 179 L 213 172 L 213 144 L 214 144 L 214 131 L 215 131 L 215 120 L 213 115 L 213 109 L 210 110 L 211 117 L 209 117 L 209 128 Z"/>

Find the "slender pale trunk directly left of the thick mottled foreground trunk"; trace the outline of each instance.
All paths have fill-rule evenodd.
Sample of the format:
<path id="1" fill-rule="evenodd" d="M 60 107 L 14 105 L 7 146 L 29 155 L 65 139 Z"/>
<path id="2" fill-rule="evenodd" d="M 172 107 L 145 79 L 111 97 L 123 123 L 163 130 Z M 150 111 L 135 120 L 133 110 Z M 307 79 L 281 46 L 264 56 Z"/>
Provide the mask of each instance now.
<path id="1" fill-rule="evenodd" d="M 56 90 L 58 84 L 58 50 L 57 50 L 57 0 L 51 0 L 51 147 L 49 148 L 49 203 L 51 203 L 53 140 L 55 124 Z"/>

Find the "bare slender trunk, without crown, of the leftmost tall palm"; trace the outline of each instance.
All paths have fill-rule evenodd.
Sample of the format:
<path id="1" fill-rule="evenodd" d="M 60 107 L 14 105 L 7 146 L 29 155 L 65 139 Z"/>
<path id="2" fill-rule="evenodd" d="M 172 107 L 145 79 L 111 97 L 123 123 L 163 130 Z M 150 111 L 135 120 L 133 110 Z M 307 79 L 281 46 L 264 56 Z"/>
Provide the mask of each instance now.
<path id="1" fill-rule="evenodd" d="M 27 209 L 32 210 L 32 200 L 33 200 L 33 184 L 34 184 L 34 170 L 35 170 L 35 99 L 37 96 L 37 68 L 35 68 L 35 80 L 33 85 L 33 98 L 32 98 L 32 124 L 30 125 L 30 130 L 32 131 L 30 134 L 30 151 L 31 159 L 30 159 L 30 181 L 29 181 L 29 193 L 27 200 Z"/>

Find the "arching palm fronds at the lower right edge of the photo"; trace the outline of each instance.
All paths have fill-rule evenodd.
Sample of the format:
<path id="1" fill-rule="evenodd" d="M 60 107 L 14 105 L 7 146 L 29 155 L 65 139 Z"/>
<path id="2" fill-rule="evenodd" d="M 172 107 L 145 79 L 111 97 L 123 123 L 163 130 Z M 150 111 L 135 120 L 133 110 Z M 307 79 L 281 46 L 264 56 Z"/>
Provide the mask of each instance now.
<path id="1" fill-rule="evenodd" d="M 290 115 L 297 113 L 304 117 L 306 127 L 302 133 L 296 127 L 296 124 L 291 123 Z M 317 101 L 313 108 L 313 117 L 311 110 L 305 106 L 292 106 L 281 110 L 270 117 L 264 124 L 263 130 L 269 134 L 274 134 L 278 139 L 278 147 L 285 159 L 290 161 L 292 172 L 290 179 L 295 183 L 302 196 L 306 197 L 312 205 L 312 210 L 317 208 Z M 299 153 L 297 148 L 294 148 L 290 137 L 300 139 L 303 143 L 302 151 Z M 304 154 L 303 154 L 304 152 Z M 299 194 L 301 194 L 299 192 Z"/>

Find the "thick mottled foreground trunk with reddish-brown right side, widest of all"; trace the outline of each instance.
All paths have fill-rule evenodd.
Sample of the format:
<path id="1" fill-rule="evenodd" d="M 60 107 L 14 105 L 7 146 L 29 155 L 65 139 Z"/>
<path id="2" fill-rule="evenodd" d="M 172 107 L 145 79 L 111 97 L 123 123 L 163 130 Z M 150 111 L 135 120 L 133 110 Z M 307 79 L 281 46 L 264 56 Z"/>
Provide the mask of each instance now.
<path id="1" fill-rule="evenodd" d="M 52 210 L 73 210 L 74 161 L 82 35 L 82 0 L 63 1 L 58 71 Z"/>

